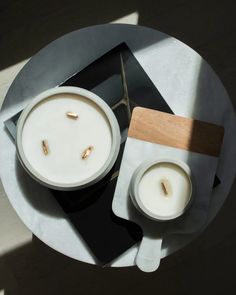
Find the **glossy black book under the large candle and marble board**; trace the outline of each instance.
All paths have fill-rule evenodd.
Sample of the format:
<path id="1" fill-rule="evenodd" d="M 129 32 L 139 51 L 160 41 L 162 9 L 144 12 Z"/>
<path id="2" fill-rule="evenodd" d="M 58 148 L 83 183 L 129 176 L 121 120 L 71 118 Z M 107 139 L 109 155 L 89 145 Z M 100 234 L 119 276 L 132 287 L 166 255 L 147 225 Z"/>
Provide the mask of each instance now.
<path id="1" fill-rule="evenodd" d="M 133 56 L 122 43 L 97 59 L 85 69 L 70 77 L 61 86 L 77 86 L 92 90 L 111 107 L 117 105 L 114 113 L 122 134 L 129 126 L 127 106 L 122 103 L 121 56 L 132 110 L 137 105 L 171 112 L 156 87 Z M 119 104 L 120 103 L 120 104 Z M 125 135 L 123 136 L 123 140 Z M 52 191 L 57 201 L 68 214 L 74 227 L 80 232 L 100 263 L 106 264 L 122 254 L 142 238 L 141 228 L 133 222 L 118 218 L 111 210 L 124 144 L 121 146 L 115 167 L 105 179 L 90 188 L 73 192 Z"/>

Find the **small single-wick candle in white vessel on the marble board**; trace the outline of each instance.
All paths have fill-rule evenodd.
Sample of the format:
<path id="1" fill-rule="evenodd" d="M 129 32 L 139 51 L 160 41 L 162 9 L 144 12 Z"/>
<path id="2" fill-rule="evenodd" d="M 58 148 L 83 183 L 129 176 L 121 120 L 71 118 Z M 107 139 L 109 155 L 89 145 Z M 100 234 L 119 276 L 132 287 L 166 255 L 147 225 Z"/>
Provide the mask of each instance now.
<path id="1" fill-rule="evenodd" d="M 177 218 L 192 201 L 191 170 L 187 164 L 172 159 L 144 162 L 132 176 L 130 196 L 148 218 Z"/>

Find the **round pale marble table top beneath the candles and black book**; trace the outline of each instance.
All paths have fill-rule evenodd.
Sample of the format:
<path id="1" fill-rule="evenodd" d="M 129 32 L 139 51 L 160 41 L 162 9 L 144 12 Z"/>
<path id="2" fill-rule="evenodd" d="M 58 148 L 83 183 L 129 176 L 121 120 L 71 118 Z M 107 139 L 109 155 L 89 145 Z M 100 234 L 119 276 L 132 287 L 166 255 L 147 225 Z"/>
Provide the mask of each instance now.
<path id="1" fill-rule="evenodd" d="M 232 163 L 236 159 L 236 118 L 232 104 L 217 75 L 193 49 L 157 30 L 122 24 L 87 27 L 50 43 L 19 72 L 5 97 L 0 113 L 1 179 L 12 206 L 39 239 L 87 263 L 95 263 L 95 259 L 62 209 L 46 188 L 32 185 L 19 168 L 15 146 L 3 122 L 25 107 L 32 97 L 57 86 L 121 42 L 127 43 L 175 114 L 225 127 L 217 169 L 221 184 L 213 191 L 207 224 L 222 207 L 236 172 Z M 29 197 L 32 194 L 33 200 Z M 168 236 L 162 257 L 184 247 L 196 235 Z M 137 249 L 135 245 L 111 266 L 134 265 Z"/>

